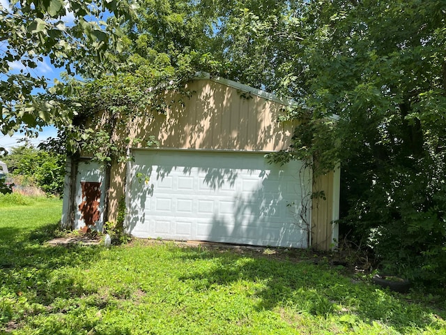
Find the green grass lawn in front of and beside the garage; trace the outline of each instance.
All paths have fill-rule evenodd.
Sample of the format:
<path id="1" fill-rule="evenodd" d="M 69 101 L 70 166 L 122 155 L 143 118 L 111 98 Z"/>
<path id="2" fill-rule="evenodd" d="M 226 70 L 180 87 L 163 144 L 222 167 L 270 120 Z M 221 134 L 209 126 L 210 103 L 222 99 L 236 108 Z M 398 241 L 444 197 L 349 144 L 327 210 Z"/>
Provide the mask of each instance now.
<path id="1" fill-rule="evenodd" d="M 438 305 L 295 253 L 48 246 L 61 201 L 25 202 L 0 198 L 0 333 L 446 334 Z"/>

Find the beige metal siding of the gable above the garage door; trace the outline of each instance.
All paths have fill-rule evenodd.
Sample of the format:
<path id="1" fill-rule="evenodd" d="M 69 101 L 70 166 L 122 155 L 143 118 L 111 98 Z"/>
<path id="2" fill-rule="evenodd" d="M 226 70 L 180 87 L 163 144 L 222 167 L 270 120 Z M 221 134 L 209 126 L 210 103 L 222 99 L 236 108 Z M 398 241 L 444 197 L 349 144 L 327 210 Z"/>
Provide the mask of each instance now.
<path id="1" fill-rule="evenodd" d="M 195 80 L 166 115 L 137 119 L 130 133 L 154 135 L 162 148 L 277 151 L 291 140 L 293 124 L 276 119 L 283 105 L 210 80 Z M 240 96 L 242 95 L 242 96 Z M 178 96 L 168 96 L 175 100 Z"/>

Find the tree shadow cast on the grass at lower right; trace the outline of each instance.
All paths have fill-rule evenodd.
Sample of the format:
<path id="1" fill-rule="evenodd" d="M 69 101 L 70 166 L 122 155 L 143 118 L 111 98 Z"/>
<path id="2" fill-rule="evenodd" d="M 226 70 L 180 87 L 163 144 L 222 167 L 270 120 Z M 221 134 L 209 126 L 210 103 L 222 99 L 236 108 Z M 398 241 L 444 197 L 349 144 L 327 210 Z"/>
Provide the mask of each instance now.
<path id="1" fill-rule="evenodd" d="M 420 329 L 440 327 L 429 318 L 429 308 L 409 304 L 403 295 L 380 290 L 370 283 L 353 283 L 351 278 L 342 276 L 329 265 L 196 248 L 185 251 L 182 257 L 188 260 L 217 258 L 213 269 L 180 278 L 199 283 L 194 288 L 197 291 L 240 281 L 261 283 L 261 289 L 254 294 L 260 298 L 256 306 L 258 311 L 279 307 L 323 318 L 354 315 L 344 320 L 351 325 L 357 320 L 370 325 L 378 321 L 400 332 L 414 326 Z"/>

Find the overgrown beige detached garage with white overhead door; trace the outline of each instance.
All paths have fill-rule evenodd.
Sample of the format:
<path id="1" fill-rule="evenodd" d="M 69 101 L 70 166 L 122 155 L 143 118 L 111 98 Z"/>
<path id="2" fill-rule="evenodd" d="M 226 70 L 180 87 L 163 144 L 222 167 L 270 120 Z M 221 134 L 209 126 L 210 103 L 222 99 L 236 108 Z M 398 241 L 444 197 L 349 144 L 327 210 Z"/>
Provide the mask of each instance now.
<path id="1" fill-rule="evenodd" d="M 125 230 L 135 237 L 330 248 L 339 171 L 314 180 L 302 162 L 264 157 L 289 146 L 295 124 L 276 121 L 289 101 L 221 78 L 200 77 L 187 89 L 190 98 L 166 115 L 114 134 L 153 135 L 159 148 L 129 147 L 132 160 L 109 168 L 88 157 L 68 161 L 63 224 L 102 230 L 124 197 Z M 175 93 L 166 99 L 179 101 Z M 312 200 L 315 191 L 326 199 Z"/>

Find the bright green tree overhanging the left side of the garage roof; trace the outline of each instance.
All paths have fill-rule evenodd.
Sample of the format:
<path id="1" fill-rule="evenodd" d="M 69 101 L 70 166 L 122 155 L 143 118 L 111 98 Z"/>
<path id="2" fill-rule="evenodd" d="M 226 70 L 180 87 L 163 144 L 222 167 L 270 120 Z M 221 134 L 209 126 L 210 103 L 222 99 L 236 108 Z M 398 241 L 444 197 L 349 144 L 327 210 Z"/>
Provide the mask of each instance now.
<path id="1" fill-rule="evenodd" d="M 207 2 L 146 0 L 130 19 L 116 17 L 123 31 L 122 51 L 116 54 L 118 71 L 84 82 L 71 80 L 63 94 L 48 98 L 77 106 L 72 124 L 60 127 L 63 144 L 57 145 L 73 153 L 91 152 L 106 163 L 123 161 L 130 139 L 113 137 L 116 128 L 136 116 L 150 119 L 153 112 L 165 113 L 162 93 L 181 91 L 197 71 L 220 72 L 222 62 L 213 54 L 217 18 Z M 101 118 L 107 122 L 100 131 L 87 126 Z M 154 142 L 151 137 L 134 140 Z"/>

